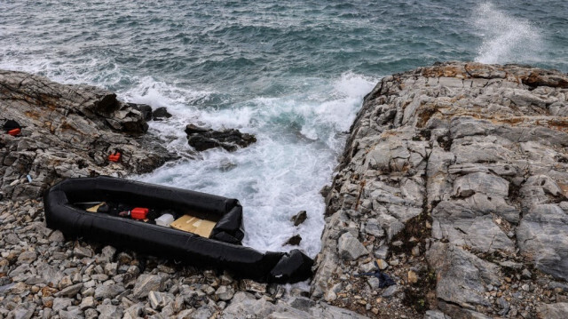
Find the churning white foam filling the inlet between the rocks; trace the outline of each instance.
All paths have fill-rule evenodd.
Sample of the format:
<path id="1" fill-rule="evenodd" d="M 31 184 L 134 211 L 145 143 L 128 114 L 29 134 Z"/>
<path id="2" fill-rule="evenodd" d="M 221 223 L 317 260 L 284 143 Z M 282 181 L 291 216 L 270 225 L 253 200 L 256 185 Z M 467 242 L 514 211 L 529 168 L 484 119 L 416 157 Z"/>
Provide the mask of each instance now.
<path id="1" fill-rule="evenodd" d="M 184 106 L 175 93 L 156 86 L 160 100 L 181 102 L 172 108 L 180 112 L 177 116 L 151 124 L 156 132 L 177 136 L 170 149 L 189 148 L 183 126 L 191 121 L 215 128 L 237 127 L 256 134 L 258 141 L 234 153 L 209 150 L 201 153 L 200 160 L 183 160 L 138 179 L 238 198 L 244 206 L 246 245 L 261 251 L 287 251 L 294 247 L 282 244 L 299 234 L 300 248 L 314 257 L 324 225 L 319 190 L 329 183 L 342 151 L 345 134 L 341 132 L 349 129 L 364 94 L 375 82 L 348 73 L 336 81 L 321 80 L 312 92 L 256 98 L 219 110 Z M 150 95 L 156 93 L 144 92 L 130 96 L 152 104 Z M 308 219 L 294 227 L 289 219 L 298 211 L 307 211 Z"/>

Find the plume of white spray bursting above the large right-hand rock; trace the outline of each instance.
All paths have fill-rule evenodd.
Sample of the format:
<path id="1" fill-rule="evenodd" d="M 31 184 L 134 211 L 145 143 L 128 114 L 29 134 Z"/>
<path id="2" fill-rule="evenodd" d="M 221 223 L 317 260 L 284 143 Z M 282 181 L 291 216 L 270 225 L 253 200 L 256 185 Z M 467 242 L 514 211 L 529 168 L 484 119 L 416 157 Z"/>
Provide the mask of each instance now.
<path id="1" fill-rule="evenodd" d="M 473 26 L 483 38 L 477 62 L 538 62 L 542 53 L 540 30 L 530 21 L 513 17 L 492 3 L 479 4 L 473 14 Z"/>

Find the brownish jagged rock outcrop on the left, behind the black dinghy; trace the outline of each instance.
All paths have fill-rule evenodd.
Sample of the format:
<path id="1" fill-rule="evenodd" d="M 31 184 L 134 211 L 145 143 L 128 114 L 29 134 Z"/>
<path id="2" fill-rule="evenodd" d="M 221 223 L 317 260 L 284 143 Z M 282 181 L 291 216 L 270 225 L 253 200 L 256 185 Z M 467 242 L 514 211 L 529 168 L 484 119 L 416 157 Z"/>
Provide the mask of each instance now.
<path id="1" fill-rule="evenodd" d="M 147 112 L 96 87 L 0 71 L 0 114 L 24 126 L 20 136 L 0 134 L 0 191 L 35 198 L 62 178 L 152 171 L 170 155 L 144 135 L 140 109 Z M 119 163 L 107 160 L 114 149 L 122 153 Z"/>

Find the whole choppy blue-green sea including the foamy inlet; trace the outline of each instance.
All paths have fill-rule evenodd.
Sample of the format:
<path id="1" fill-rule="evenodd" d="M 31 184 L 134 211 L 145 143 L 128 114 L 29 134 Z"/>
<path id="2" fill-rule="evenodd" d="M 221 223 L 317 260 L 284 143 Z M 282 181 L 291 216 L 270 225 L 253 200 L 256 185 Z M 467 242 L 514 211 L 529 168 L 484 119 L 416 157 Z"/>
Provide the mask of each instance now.
<path id="1" fill-rule="evenodd" d="M 167 107 L 150 124 L 185 153 L 185 124 L 237 128 L 258 142 L 209 150 L 137 176 L 235 197 L 245 244 L 299 234 L 314 257 L 330 183 L 361 101 L 382 76 L 435 61 L 568 71 L 565 1 L 0 2 L 0 68 L 94 84 Z M 290 217 L 307 211 L 293 227 Z"/>

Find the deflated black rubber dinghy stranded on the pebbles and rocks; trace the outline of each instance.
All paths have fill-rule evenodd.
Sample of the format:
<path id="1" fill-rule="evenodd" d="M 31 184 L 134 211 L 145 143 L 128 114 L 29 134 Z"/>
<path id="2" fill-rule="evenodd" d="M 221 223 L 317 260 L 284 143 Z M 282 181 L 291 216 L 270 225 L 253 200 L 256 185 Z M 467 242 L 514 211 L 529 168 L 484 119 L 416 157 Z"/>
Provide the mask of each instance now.
<path id="1" fill-rule="evenodd" d="M 86 211 L 80 204 L 100 202 L 177 211 L 195 220 L 216 223 L 207 238 L 133 219 L 138 209 L 132 210 L 132 218 L 124 218 Z M 226 269 L 236 277 L 261 282 L 296 283 L 312 275 L 313 260 L 301 251 L 263 253 L 241 246 L 242 207 L 236 199 L 100 176 L 60 182 L 45 193 L 43 205 L 47 227 L 59 229 L 67 236 L 181 260 L 197 267 Z M 191 219 L 187 215 L 179 222 Z"/>

